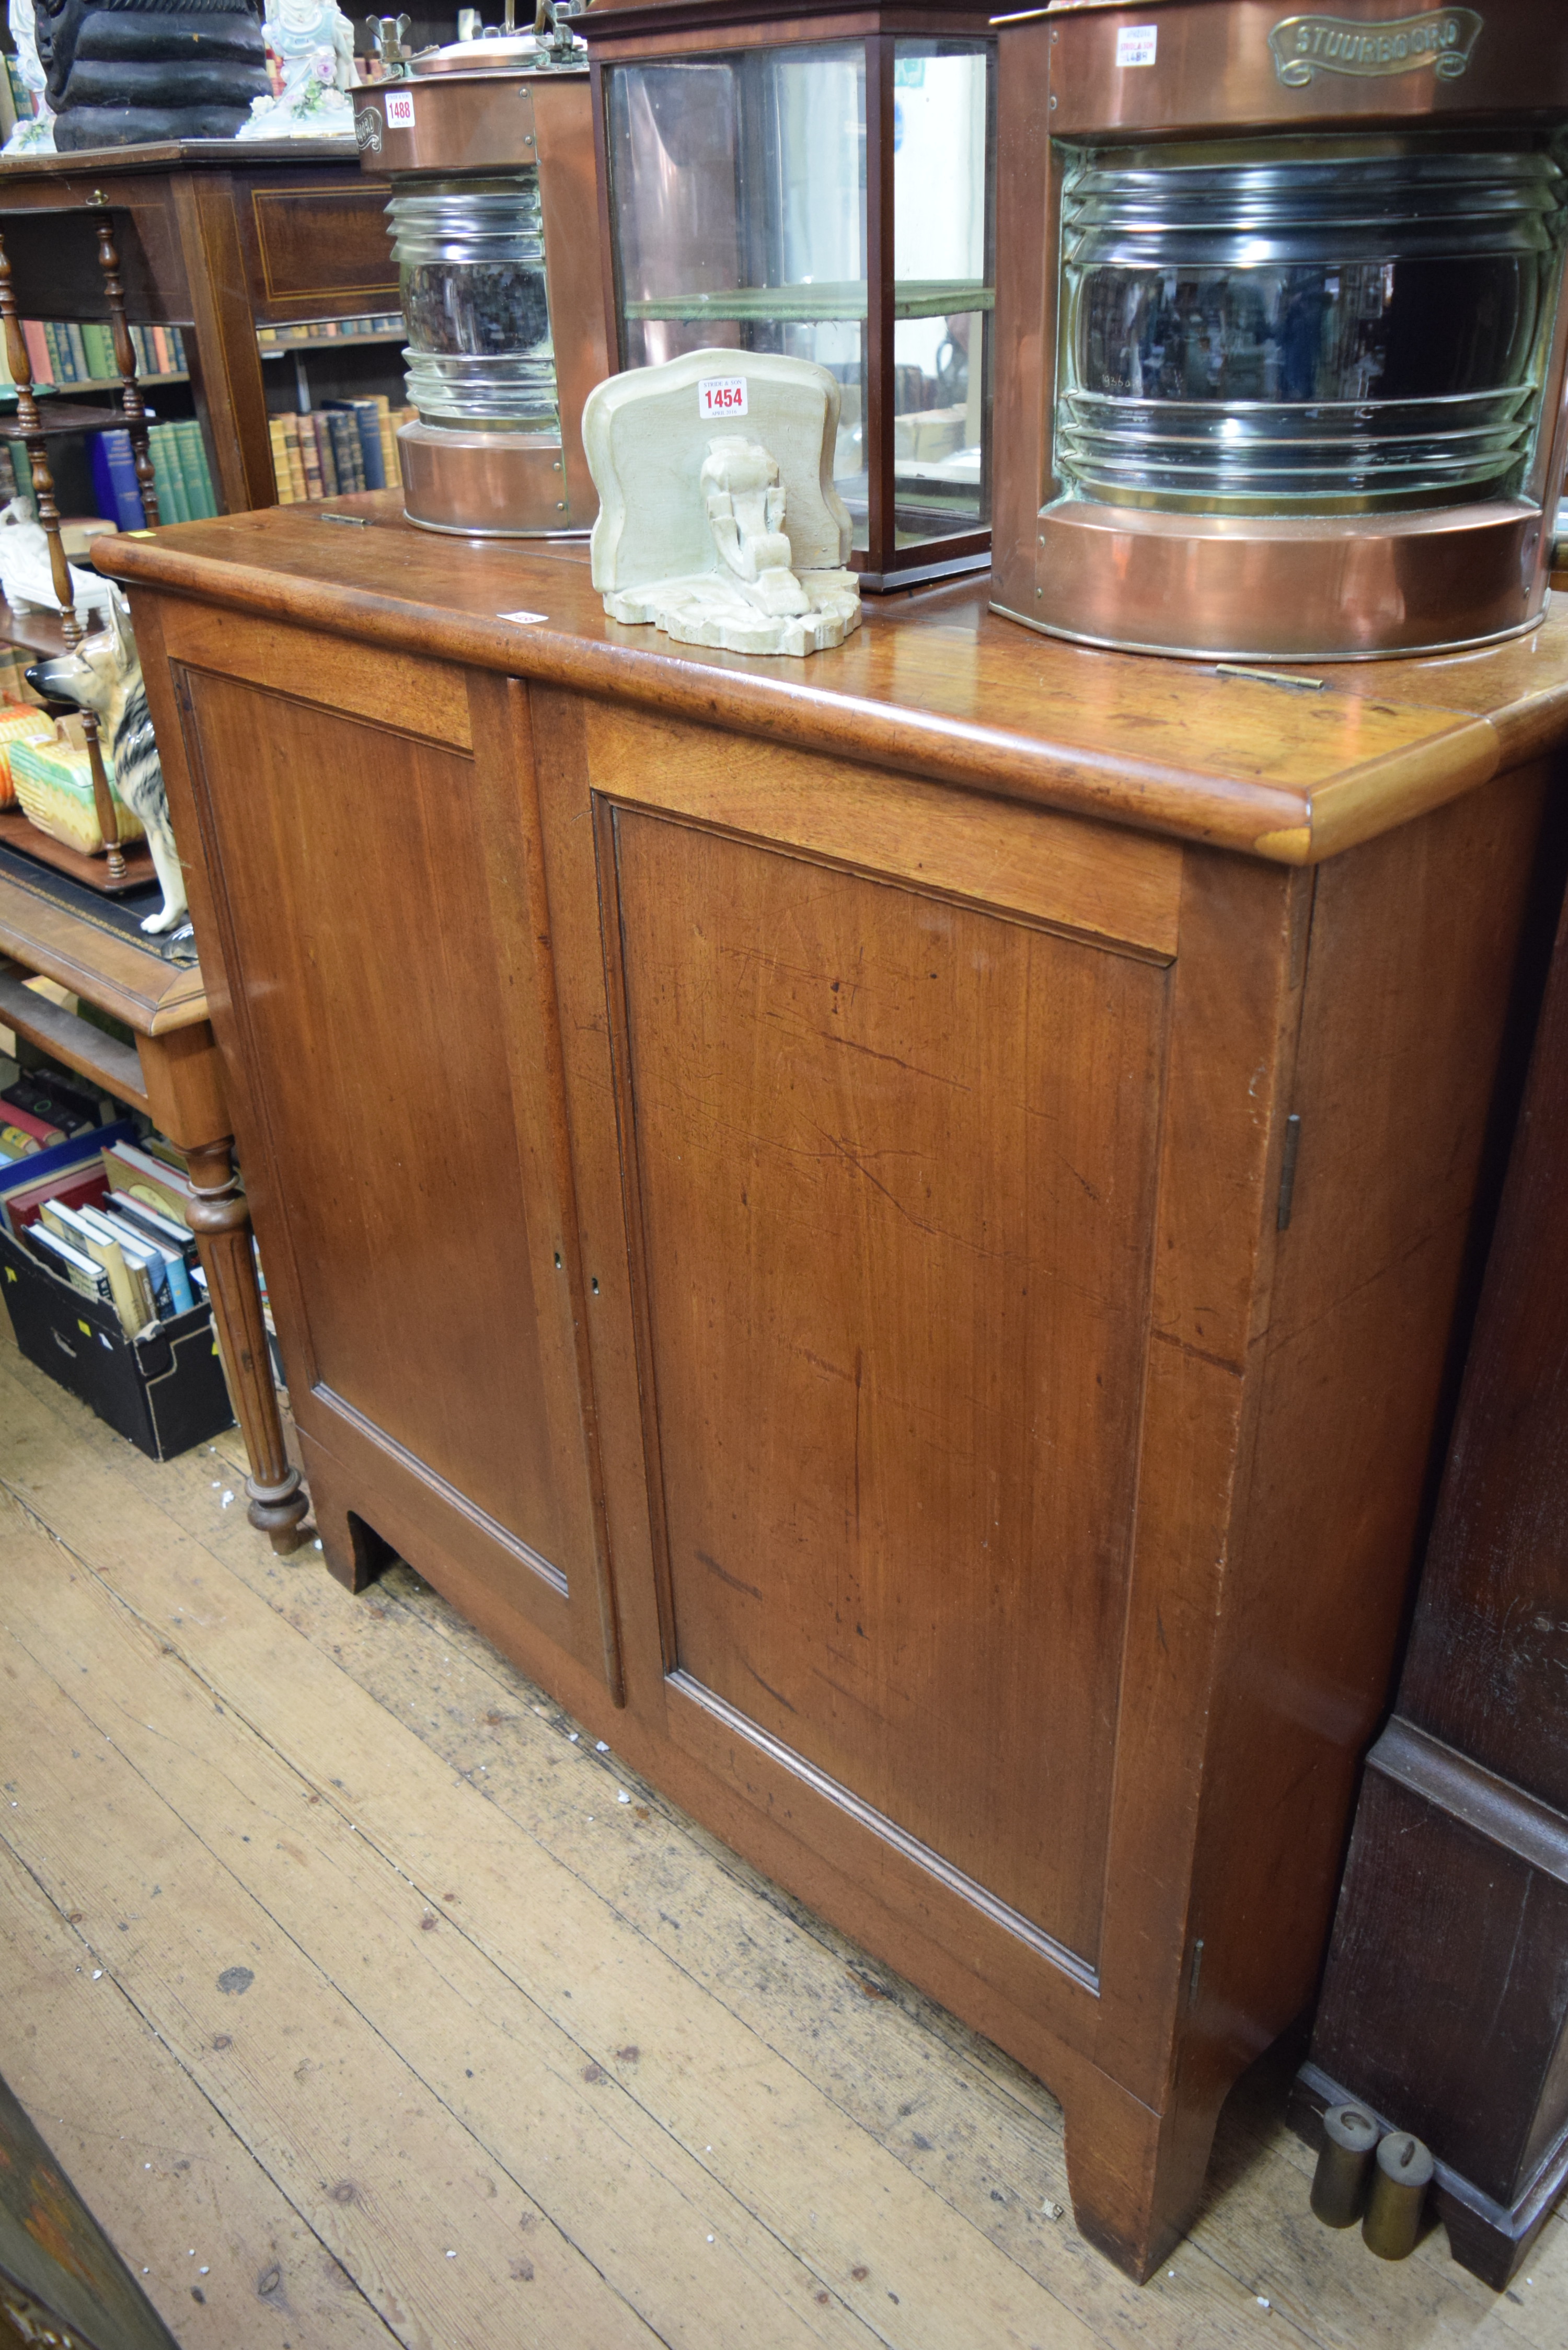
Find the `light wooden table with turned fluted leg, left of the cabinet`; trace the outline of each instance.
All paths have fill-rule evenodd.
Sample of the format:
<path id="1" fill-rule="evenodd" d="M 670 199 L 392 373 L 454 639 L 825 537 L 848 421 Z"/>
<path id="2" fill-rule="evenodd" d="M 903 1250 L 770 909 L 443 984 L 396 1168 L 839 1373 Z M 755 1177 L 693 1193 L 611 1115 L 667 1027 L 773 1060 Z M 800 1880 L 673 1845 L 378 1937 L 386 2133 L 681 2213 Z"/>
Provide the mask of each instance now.
<path id="1" fill-rule="evenodd" d="M 26 980 L 59 980 L 85 1003 L 122 1020 L 134 1048 L 35 994 Z M 292 1551 L 308 1502 L 289 1464 L 273 1363 L 261 1321 L 249 1213 L 235 1189 L 223 1065 L 197 968 L 165 964 L 153 947 L 113 935 L 0 874 L 0 1022 L 80 1069 L 120 1102 L 143 1109 L 186 1152 L 202 1196 L 193 1213 L 212 1318 L 244 1436 L 249 1520 Z"/>

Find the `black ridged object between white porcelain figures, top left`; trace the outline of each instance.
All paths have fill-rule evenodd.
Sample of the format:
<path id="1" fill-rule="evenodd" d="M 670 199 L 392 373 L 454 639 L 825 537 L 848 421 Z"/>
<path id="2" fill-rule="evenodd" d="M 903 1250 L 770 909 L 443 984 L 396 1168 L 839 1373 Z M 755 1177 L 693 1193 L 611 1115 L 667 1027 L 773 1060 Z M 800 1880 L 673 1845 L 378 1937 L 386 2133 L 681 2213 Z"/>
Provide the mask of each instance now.
<path id="1" fill-rule="evenodd" d="M 233 0 L 33 0 L 61 153 L 233 139 L 268 89 L 254 9 Z"/>

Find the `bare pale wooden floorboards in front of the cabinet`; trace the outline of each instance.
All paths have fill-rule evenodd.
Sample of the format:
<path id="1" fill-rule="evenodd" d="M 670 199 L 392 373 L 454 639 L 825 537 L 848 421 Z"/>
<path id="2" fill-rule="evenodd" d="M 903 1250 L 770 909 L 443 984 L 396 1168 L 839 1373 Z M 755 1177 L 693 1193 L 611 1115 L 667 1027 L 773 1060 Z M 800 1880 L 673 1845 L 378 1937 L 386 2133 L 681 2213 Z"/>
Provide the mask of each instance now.
<path id="1" fill-rule="evenodd" d="M 1018 2066 L 2 1328 L 0 1626 L 0 2070 L 190 2350 L 1568 2338 L 1561 2218 L 1509 2296 L 1319 2228 L 1281 2066 L 1138 2291 Z"/>

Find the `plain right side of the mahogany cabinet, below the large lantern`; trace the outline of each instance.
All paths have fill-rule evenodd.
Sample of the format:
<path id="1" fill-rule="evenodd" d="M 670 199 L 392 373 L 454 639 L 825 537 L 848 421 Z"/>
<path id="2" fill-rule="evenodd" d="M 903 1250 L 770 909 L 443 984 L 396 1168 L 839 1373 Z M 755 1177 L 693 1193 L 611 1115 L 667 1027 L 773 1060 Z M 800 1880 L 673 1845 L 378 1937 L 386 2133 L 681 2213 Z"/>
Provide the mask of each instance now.
<path id="1" fill-rule="evenodd" d="M 1225 1607 L 1199 2030 L 1251 2059 L 1314 1993 L 1356 1765 L 1389 1699 L 1544 773 L 1316 877 L 1300 1142 Z M 1396 905 L 1396 914 L 1392 907 Z"/>

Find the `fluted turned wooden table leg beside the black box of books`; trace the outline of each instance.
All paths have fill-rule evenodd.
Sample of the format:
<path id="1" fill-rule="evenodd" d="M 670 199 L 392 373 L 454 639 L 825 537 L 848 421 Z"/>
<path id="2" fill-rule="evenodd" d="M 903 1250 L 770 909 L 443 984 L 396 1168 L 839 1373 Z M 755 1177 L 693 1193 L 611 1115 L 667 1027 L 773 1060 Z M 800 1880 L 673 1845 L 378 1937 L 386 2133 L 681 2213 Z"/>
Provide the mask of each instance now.
<path id="1" fill-rule="evenodd" d="M 310 1504 L 282 1443 L 249 1210 L 226 1140 L 188 1149 L 186 1166 L 195 1191 L 190 1229 L 252 1464 L 244 1480 L 249 1520 L 268 1535 L 275 1551 L 287 1553 L 299 1542 L 299 1520 Z"/>

